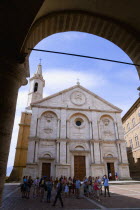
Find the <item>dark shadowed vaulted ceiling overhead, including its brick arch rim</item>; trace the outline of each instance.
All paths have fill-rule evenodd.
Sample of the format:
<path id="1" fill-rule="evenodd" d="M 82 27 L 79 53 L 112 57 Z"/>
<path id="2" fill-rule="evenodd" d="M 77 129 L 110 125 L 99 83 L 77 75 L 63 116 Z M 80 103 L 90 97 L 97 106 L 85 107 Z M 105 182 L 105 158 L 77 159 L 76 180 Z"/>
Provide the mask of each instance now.
<path id="1" fill-rule="evenodd" d="M 48 35 L 75 30 L 112 41 L 140 64 L 139 0 L 3 0 L 0 8 L 2 56 L 18 57 Z"/>

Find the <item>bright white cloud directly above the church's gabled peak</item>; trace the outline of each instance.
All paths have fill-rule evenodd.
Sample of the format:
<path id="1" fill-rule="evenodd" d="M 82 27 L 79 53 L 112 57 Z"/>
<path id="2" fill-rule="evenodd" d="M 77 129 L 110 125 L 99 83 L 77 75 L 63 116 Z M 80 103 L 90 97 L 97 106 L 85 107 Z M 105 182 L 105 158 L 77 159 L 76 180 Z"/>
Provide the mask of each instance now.
<path id="1" fill-rule="evenodd" d="M 87 89 L 99 88 L 107 84 L 107 80 L 103 76 L 91 73 L 90 70 L 86 73 L 69 69 L 47 69 L 43 77 L 46 81 L 45 96 L 76 85 L 77 78 L 80 84 Z"/>

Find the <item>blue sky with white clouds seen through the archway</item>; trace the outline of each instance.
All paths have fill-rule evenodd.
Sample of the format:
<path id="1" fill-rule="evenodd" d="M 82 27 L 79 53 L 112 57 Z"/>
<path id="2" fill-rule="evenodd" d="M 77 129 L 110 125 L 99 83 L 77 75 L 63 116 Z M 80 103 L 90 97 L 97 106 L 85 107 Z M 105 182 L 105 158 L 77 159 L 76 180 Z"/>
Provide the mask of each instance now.
<path id="1" fill-rule="evenodd" d="M 128 55 L 112 42 L 82 32 L 53 34 L 34 48 L 132 63 Z M 29 57 L 30 77 L 34 75 L 40 59 L 46 83 L 43 97 L 76 85 L 79 78 L 82 86 L 121 108 L 122 116 L 138 98 L 139 78 L 135 66 L 32 51 Z M 19 89 L 7 175 L 14 164 L 18 124 L 27 105 L 28 91 L 29 83 Z"/>

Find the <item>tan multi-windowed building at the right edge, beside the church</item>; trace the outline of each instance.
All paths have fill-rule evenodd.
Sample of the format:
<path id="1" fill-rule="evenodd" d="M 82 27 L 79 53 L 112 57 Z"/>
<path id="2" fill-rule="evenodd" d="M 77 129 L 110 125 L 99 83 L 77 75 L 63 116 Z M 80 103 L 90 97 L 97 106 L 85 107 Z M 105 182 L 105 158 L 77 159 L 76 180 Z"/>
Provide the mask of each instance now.
<path id="1" fill-rule="evenodd" d="M 130 174 L 133 178 L 140 178 L 140 98 L 124 115 L 122 122 Z"/>

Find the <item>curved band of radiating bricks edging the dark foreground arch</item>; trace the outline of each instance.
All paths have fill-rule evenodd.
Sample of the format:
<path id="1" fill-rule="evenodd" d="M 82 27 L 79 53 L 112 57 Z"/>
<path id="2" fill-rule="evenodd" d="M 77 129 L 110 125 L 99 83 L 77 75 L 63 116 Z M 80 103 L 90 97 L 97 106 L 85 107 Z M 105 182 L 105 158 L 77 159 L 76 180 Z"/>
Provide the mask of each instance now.
<path id="1" fill-rule="evenodd" d="M 84 11 L 61 11 L 41 17 L 31 27 L 21 52 L 28 54 L 28 48 L 34 48 L 42 39 L 66 31 L 86 32 L 103 37 L 119 46 L 133 63 L 140 64 L 140 41 L 133 30 L 115 20 Z M 140 67 L 136 68 L 140 76 Z"/>

